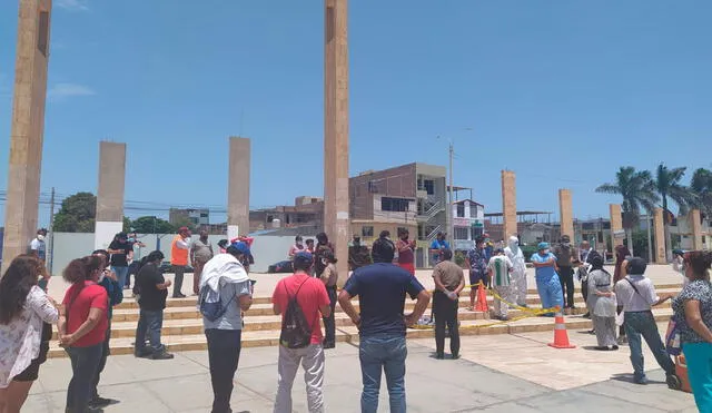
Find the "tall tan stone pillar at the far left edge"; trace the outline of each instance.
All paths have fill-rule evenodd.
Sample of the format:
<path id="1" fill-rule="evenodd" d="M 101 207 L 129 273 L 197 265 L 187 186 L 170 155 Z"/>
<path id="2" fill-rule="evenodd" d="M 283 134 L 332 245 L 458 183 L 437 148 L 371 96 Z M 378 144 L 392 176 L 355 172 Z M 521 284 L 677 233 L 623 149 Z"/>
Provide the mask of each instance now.
<path id="1" fill-rule="evenodd" d="M 37 232 L 51 10 L 51 0 L 20 0 L 2 273 Z"/>

